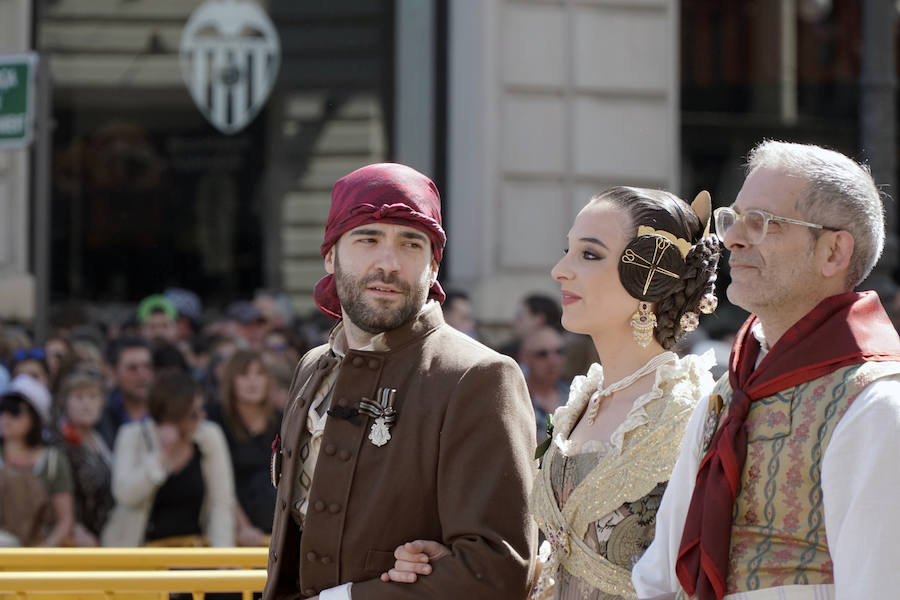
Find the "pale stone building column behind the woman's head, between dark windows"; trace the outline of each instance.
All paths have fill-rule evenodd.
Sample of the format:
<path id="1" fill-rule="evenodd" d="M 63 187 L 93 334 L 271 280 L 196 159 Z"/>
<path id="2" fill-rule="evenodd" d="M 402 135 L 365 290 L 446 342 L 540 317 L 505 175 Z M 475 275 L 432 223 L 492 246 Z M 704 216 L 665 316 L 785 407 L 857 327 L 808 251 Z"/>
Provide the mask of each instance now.
<path id="1" fill-rule="evenodd" d="M 577 212 L 616 184 L 678 190 L 678 2 L 449 5 L 448 284 L 486 325 L 559 294 Z"/>

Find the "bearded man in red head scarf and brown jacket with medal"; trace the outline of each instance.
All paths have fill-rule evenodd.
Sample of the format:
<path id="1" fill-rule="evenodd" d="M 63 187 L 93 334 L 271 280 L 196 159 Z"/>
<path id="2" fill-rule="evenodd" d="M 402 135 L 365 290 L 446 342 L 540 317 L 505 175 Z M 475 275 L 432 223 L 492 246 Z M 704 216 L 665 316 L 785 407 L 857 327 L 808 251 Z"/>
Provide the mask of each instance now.
<path id="1" fill-rule="evenodd" d="M 315 301 L 340 320 L 301 359 L 273 446 L 264 600 L 525 597 L 534 414 L 516 363 L 444 323 L 445 242 L 421 173 L 375 164 L 335 184 Z M 382 581 L 416 539 L 451 555 Z"/>

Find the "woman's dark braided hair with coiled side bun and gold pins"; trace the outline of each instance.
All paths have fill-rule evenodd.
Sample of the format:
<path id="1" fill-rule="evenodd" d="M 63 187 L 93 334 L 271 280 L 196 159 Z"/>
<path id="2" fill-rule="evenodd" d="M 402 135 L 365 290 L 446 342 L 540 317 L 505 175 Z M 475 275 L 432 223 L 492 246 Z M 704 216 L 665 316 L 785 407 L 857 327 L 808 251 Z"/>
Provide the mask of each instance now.
<path id="1" fill-rule="evenodd" d="M 617 186 L 595 196 L 593 202 L 609 202 L 631 218 L 630 239 L 619 260 L 619 279 L 632 297 L 656 303 L 656 341 L 670 349 L 686 333 L 681 317 L 697 312 L 700 299 L 712 293 L 721 242 L 704 237 L 706 223 L 686 202 L 662 190 Z M 652 232 L 639 228 L 648 227 Z M 689 244 L 682 256 L 675 240 Z M 651 272 L 649 265 L 655 265 Z"/>

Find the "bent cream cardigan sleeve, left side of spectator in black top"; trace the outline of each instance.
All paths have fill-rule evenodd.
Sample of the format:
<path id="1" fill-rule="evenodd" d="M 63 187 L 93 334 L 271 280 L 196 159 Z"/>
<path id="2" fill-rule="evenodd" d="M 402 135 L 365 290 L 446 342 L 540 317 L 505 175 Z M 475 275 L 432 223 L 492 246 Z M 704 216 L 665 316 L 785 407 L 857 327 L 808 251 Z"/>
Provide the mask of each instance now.
<path id="1" fill-rule="evenodd" d="M 144 424 L 129 423 L 119 430 L 113 452 L 112 493 L 116 503 L 138 506 L 156 494 L 166 480 L 166 470 L 159 460 L 155 429 Z M 144 433 L 151 440 L 148 447 Z"/>

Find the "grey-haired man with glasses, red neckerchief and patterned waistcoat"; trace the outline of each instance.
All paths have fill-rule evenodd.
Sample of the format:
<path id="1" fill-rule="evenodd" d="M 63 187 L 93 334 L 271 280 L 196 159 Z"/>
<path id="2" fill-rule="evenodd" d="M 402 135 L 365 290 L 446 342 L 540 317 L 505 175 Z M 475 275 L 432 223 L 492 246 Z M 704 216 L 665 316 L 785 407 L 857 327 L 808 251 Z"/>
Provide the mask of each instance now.
<path id="1" fill-rule="evenodd" d="M 900 339 L 853 291 L 884 246 L 878 189 L 842 154 L 763 142 L 715 217 L 752 314 L 688 425 L 638 595 L 895 597 Z"/>

